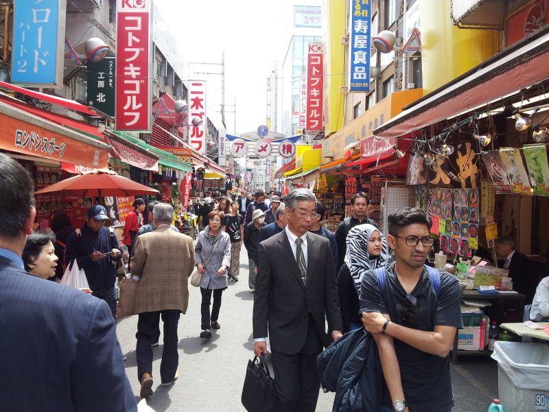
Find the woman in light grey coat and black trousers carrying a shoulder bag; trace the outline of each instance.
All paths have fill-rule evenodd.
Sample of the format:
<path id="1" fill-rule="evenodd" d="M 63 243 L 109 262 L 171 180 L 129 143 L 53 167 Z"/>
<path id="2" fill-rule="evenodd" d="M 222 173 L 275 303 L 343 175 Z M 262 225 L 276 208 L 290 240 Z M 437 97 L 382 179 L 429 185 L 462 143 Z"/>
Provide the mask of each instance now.
<path id="1" fill-rule="evenodd" d="M 227 268 L 231 264 L 231 238 L 221 230 L 224 222 L 222 211 L 211 211 L 208 214 L 208 225 L 200 232 L 196 240 L 196 266 L 200 279 L 202 304 L 200 313 L 202 321 L 200 338 L 211 339 L 211 329 L 221 328 L 218 323 L 221 308 L 221 295 L 227 288 Z M 210 313 L 211 295 L 213 307 Z"/>

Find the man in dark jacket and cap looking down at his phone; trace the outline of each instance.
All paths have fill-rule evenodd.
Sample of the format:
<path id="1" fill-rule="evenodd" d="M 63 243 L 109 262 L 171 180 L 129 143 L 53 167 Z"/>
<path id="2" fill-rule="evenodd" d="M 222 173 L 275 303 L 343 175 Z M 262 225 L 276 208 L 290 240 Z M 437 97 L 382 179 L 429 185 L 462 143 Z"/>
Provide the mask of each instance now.
<path id="1" fill-rule="evenodd" d="M 76 260 L 86 273 L 92 295 L 106 301 L 114 317 L 116 268 L 113 261 L 121 258 L 121 250 L 114 231 L 111 233 L 104 227 L 108 220 L 102 205 L 90 207 L 86 224 L 67 239 L 65 262 L 69 265 Z"/>

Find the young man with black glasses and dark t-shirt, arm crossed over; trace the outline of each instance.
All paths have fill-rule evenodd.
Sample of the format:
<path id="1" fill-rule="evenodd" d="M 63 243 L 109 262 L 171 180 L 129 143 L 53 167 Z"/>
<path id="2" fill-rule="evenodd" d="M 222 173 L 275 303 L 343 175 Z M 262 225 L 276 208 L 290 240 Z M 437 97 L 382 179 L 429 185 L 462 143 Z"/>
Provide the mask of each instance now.
<path id="1" fill-rule="evenodd" d="M 362 279 L 362 322 L 377 342 L 386 382 L 379 412 L 454 406 L 448 354 L 462 327 L 460 288 L 453 275 L 424 265 L 431 225 L 420 209 L 397 209 L 387 235 L 395 262 Z"/>

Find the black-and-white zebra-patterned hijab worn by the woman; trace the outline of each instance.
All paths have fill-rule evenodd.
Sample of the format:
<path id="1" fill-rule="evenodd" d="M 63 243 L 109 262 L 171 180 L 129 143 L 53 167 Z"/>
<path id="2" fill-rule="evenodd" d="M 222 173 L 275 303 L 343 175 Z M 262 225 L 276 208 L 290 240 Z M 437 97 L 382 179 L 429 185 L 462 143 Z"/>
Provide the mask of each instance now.
<path id="1" fill-rule="evenodd" d="M 371 257 L 368 253 L 368 240 L 374 231 L 379 232 L 382 238 L 382 253 L 377 257 Z M 360 296 L 360 284 L 366 271 L 385 266 L 388 260 L 387 240 L 382 231 L 373 225 L 358 225 L 353 227 L 347 235 L 347 253 L 345 263 L 351 272 L 356 292 Z"/>

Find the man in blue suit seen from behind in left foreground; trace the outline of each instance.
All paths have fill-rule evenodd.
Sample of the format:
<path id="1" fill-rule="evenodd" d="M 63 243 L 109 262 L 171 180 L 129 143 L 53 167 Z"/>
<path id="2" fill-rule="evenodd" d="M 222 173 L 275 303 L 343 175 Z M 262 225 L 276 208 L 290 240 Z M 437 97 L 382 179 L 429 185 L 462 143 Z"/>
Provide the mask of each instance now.
<path id="1" fill-rule="evenodd" d="M 25 272 L 34 184 L 3 154 L 0 176 L 0 410 L 137 411 L 108 305 Z"/>

